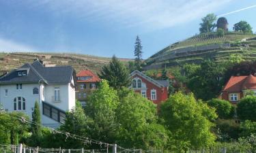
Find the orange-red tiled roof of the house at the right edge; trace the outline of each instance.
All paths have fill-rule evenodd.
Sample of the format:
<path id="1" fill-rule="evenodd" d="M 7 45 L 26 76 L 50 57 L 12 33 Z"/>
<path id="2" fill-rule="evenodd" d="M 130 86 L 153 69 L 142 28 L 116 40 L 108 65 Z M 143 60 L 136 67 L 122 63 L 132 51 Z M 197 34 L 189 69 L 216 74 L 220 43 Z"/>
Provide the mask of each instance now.
<path id="1" fill-rule="evenodd" d="M 255 76 L 231 76 L 223 91 L 241 92 L 241 90 L 245 89 L 256 89 Z"/>

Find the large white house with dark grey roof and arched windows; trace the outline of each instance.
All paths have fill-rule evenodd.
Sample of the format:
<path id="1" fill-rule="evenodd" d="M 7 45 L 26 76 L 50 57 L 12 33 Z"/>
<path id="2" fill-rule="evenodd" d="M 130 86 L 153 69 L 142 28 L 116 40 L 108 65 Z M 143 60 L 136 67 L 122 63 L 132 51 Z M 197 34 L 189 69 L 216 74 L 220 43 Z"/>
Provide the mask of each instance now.
<path id="1" fill-rule="evenodd" d="M 7 112 L 24 112 L 31 118 L 38 101 L 42 124 L 56 128 L 75 106 L 74 78 L 70 66 L 44 67 L 40 60 L 26 63 L 1 76 L 0 103 Z"/>

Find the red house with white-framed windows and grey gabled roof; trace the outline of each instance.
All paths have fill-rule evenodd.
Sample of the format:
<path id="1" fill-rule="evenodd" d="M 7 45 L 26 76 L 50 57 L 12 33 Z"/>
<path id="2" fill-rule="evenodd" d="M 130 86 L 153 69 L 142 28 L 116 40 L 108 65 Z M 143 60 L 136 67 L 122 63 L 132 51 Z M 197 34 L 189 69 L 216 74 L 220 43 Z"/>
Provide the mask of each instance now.
<path id="1" fill-rule="evenodd" d="M 169 80 L 154 80 L 137 70 L 130 73 L 130 77 L 132 78 L 130 88 L 155 104 L 168 98 Z"/>

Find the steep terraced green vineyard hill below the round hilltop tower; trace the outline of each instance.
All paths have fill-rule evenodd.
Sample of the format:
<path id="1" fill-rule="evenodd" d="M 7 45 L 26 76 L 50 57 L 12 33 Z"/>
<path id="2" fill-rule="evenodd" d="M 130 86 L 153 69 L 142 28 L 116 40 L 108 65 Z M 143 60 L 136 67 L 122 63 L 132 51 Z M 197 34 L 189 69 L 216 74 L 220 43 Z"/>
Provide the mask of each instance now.
<path id="1" fill-rule="evenodd" d="M 218 37 L 216 33 L 195 35 L 176 42 L 150 56 L 145 62 L 145 70 L 161 69 L 200 63 L 205 58 L 216 62 L 225 61 L 231 54 L 242 54 L 246 60 L 256 60 L 256 35 L 228 32 Z"/>

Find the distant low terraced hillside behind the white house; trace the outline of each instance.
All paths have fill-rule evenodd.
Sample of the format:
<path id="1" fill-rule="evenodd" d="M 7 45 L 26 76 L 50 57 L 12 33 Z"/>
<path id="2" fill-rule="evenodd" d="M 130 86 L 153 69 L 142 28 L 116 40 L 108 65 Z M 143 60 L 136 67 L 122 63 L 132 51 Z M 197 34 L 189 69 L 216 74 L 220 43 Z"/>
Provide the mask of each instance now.
<path id="1" fill-rule="evenodd" d="M 57 54 L 39 52 L 12 52 L 0 53 L 0 73 L 3 74 L 12 69 L 18 68 L 25 63 L 31 63 L 35 58 L 39 58 L 46 66 L 71 65 L 77 71 L 90 69 L 95 73 L 109 63 L 111 58 L 90 56 L 85 54 Z M 130 59 L 119 58 L 120 61 L 127 62 Z"/>

